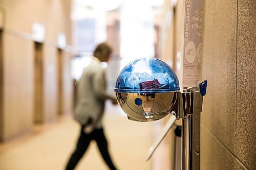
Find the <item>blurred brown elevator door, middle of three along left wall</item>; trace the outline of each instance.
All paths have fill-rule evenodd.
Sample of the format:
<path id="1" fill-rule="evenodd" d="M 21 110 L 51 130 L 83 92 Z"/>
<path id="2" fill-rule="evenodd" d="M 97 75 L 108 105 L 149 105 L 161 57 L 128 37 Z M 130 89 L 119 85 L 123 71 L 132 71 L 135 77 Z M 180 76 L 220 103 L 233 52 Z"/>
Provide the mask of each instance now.
<path id="1" fill-rule="evenodd" d="M 44 119 L 43 110 L 43 65 L 42 44 L 34 43 L 34 122 L 42 123 Z"/>

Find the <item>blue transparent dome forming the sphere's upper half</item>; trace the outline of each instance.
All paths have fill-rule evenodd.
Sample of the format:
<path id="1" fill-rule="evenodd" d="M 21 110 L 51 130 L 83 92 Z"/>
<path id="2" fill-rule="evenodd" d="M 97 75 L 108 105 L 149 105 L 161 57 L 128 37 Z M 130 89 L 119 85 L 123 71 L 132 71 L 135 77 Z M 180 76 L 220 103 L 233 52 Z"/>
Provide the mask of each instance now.
<path id="1" fill-rule="evenodd" d="M 126 65 L 120 72 L 115 92 L 162 93 L 180 90 L 178 78 L 165 62 L 141 58 Z"/>

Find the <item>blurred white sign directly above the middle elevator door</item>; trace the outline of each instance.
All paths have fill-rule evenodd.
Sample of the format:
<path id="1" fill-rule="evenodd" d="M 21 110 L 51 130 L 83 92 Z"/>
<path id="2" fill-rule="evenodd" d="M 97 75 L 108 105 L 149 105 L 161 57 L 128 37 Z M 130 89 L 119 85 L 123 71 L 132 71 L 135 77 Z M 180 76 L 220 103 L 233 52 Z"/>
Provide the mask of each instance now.
<path id="1" fill-rule="evenodd" d="M 43 42 L 45 40 L 45 26 L 34 22 L 32 24 L 32 39 L 36 42 Z"/>

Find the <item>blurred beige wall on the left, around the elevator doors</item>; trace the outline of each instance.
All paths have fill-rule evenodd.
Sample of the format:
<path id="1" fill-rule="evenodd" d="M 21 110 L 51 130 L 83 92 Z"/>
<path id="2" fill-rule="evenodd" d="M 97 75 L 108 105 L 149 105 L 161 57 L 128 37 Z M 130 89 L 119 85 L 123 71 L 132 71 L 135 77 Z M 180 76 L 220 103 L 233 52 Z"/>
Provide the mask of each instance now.
<path id="1" fill-rule="evenodd" d="M 34 119 L 34 41 L 31 38 L 32 23 L 39 22 L 46 28 L 42 42 L 43 60 L 43 116 L 42 122 L 57 118 L 57 74 L 58 58 L 56 45 L 59 32 L 66 35 L 71 45 L 70 0 L 15 1 L 1 0 L 5 11 L 3 29 L 3 125 L 2 140 L 31 131 Z M 69 48 L 70 49 L 70 48 Z M 72 51 L 63 51 L 63 112 L 72 109 L 72 87 L 70 60 Z M 1 76 L 0 76 L 1 78 Z M 0 133 L 1 134 L 1 133 Z"/>

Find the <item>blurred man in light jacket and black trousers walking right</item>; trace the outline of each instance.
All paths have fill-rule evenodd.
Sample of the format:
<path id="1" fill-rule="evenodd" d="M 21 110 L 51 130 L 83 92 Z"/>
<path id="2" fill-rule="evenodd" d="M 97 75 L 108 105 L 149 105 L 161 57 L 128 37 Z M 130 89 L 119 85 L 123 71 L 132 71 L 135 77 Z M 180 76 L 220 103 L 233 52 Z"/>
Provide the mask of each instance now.
<path id="1" fill-rule="evenodd" d="M 117 104 L 115 96 L 106 91 L 104 68 L 100 65 L 101 62 L 109 60 L 111 53 L 112 49 L 107 43 L 98 44 L 91 63 L 84 68 L 78 81 L 74 119 L 81 125 L 81 133 L 76 149 L 67 164 L 67 170 L 75 168 L 92 140 L 97 142 L 102 158 L 109 168 L 116 169 L 109 154 L 108 143 L 102 127 L 105 100 L 110 99 L 113 104 Z"/>

